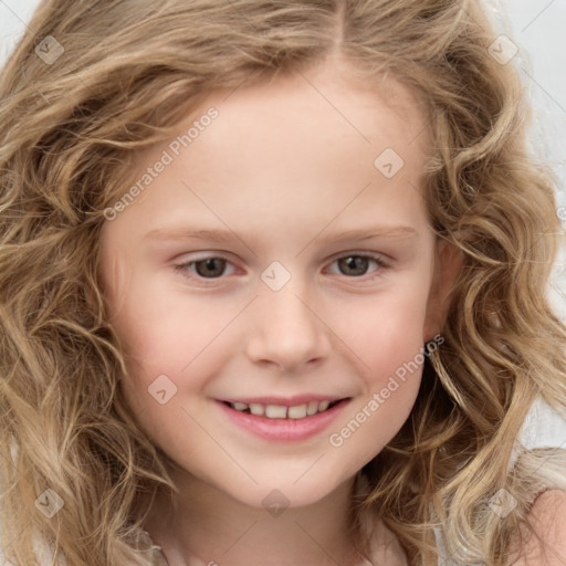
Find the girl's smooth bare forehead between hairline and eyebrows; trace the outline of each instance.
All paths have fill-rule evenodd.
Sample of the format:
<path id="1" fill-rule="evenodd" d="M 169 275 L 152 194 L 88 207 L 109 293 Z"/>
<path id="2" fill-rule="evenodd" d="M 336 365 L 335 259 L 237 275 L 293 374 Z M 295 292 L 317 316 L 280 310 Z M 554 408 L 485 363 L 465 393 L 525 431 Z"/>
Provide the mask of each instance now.
<path id="1" fill-rule="evenodd" d="M 211 107 L 218 116 L 200 120 Z M 427 124 L 413 94 L 389 76 L 370 84 L 325 64 L 213 91 L 178 133 L 137 155 L 139 175 L 164 151 L 171 163 L 125 212 L 135 231 L 198 217 L 269 233 L 290 219 L 297 230 L 322 226 L 339 210 L 333 222 L 343 229 L 376 213 L 422 223 Z"/>

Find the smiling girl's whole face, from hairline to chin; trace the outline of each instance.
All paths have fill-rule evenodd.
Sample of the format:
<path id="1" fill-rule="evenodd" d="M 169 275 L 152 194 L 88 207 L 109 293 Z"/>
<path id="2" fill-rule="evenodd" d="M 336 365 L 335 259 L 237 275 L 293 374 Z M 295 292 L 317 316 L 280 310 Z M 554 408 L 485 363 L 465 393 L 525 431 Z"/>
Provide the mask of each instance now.
<path id="1" fill-rule="evenodd" d="M 273 489 L 292 505 L 321 500 L 397 433 L 447 283 L 421 198 L 427 124 L 408 91 L 389 80 L 384 102 L 339 66 L 305 76 L 214 93 L 179 126 L 217 108 L 190 145 L 140 156 L 139 177 L 155 178 L 101 242 L 138 421 L 181 484 L 255 506 Z M 374 164 L 387 148 L 402 167 L 391 150 Z M 221 402 L 294 396 L 348 400 L 306 420 Z"/>

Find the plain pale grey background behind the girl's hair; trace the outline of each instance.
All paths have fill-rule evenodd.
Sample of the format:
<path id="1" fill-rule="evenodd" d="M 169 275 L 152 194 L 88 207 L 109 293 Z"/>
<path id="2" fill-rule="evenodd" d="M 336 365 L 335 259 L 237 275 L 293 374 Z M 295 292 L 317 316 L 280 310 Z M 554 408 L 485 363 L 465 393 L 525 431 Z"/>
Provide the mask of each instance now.
<path id="1" fill-rule="evenodd" d="M 0 0 L 0 66 L 38 4 L 38 0 Z M 497 33 L 511 38 L 520 50 L 512 64 L 520 70 L 535 108 L 533 151 L 555 169 L 557 207 L 566 207 L 566 0 L 484 0 L 484 4 Z M 566 322 L 566 247 L 548 295 Z"/>

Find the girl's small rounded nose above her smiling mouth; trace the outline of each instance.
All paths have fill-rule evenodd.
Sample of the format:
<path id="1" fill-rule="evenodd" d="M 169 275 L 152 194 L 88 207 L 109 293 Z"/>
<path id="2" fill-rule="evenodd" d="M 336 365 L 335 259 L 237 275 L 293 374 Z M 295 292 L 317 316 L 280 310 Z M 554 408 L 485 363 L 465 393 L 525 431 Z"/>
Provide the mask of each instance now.
<path id="1" fill-rule="evenodd" d="M 331 352 L 328 328 L 313 301 L 295 285 L 260 293 L 247 354 L 254 364 L 298 370 L 321 364 Z"/>

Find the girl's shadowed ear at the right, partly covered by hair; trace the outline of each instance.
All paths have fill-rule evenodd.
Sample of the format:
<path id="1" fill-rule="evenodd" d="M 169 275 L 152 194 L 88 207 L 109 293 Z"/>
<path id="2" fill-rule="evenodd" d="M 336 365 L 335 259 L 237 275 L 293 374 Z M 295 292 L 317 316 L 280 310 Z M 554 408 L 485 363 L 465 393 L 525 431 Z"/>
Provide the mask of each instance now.
<path id="1" fill-rule="evenodd" d="M 463 253 L 446 240 L 437 240 L 432 283 L 427 302 L 427 315 L 422 329 L 423 342 L 442 332 L 450 306 L 452 285 L 463 264 Z"/>

